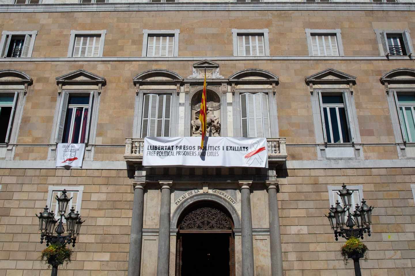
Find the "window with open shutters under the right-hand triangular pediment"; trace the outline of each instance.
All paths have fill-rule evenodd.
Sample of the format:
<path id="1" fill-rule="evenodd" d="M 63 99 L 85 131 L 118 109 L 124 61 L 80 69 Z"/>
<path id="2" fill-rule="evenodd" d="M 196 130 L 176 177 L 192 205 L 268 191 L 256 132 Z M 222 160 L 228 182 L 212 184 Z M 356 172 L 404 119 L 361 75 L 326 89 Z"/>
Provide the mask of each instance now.
<path id="1" fill-rule="evenodd" d="M 347 94 L 322 94 L 318 91 L 323 135 L 327 143 L 350 143 L 353 133 Z"/>

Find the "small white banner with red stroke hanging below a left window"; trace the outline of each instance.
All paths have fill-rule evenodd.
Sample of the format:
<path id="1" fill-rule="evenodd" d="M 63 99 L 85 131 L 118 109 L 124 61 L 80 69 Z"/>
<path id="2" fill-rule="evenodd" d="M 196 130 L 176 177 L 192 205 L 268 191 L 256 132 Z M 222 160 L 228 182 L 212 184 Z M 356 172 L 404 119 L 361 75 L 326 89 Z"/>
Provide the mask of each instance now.
<path id="1" fill-rule="evenodd" d="M 82 167 L 85 144 L 58 144 L 56 167 Z"/>

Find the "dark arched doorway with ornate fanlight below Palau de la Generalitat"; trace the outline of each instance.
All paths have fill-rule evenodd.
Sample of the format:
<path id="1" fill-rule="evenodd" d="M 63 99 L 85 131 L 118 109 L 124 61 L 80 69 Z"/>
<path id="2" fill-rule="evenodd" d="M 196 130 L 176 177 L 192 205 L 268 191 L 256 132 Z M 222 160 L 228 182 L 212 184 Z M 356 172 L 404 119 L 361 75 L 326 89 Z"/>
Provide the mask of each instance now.
<path id="1" fill-rule="evenodd" d="M 199 201 L 178 219 L 176 276 L 234 276 L 234 223 L 216 202 Z"/>

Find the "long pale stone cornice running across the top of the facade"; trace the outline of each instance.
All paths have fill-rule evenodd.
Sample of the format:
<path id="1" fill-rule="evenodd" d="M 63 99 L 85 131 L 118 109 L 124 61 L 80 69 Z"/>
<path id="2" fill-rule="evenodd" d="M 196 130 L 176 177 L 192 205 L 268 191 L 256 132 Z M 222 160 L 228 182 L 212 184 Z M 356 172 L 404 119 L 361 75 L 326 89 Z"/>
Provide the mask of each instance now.
<path id="1" fill-rule="evenodd" d="M 254 3 L 105 3 L 0 5 L 0 12 L 122 12 L 122 11 L 275 11 L 275 10 L 371 10 L 415 11 L 415 3 L 359 2 L 254 2 Z"/>

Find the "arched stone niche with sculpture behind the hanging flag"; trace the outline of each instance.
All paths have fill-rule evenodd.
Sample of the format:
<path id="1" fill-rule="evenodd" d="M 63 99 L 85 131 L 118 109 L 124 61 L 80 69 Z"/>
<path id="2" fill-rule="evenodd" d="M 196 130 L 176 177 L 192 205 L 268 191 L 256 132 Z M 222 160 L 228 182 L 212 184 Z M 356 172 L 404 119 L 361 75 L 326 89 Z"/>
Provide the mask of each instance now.
<path id="1" fill-rule="evenodd" d="M 200 137 L 202 132 L 200 130 L 200 102 L 202 99 L 203 89 L 195 92 L 191 99 L 190 110 L 190 134 L 191 136 Z M 220 136 L 220 98 L 219 95 L 211 89 L 206 90 L 206 136 L 219 137 Z"/>

